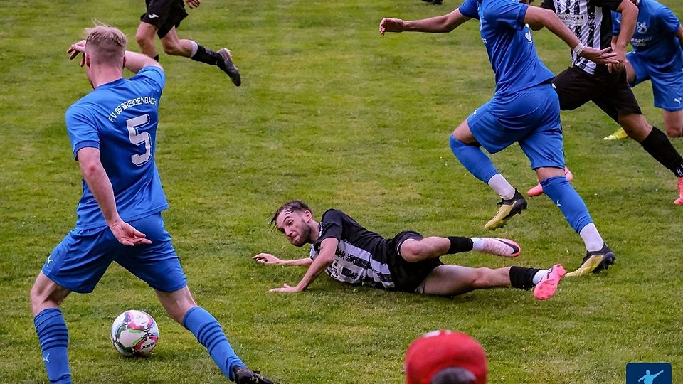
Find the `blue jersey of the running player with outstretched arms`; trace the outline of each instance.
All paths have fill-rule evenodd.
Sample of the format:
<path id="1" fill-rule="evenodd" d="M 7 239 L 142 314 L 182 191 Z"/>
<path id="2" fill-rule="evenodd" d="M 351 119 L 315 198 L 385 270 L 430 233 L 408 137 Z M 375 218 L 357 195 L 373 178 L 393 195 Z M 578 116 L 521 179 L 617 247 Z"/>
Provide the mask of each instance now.
<path id="1" fill-rule="evenodd" d="M 554 77 L 536 55 L 524 23 L 529 6 L 518 0 L 465 0 L 463 16 L 480 21 L 482 41 L 496 74 L 496 95 L 510 95 Z"/>

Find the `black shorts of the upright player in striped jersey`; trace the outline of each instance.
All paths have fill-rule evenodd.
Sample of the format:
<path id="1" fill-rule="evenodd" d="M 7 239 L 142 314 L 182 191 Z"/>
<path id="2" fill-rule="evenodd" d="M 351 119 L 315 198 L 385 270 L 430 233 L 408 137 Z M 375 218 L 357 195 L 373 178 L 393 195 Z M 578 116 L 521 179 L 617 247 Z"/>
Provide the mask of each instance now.
<path id="1" fill-rule="evenodd" d="M 625 70 L 609 73 L 604 65 L 598 65 L 595 75 L 590 75 L 581 68 L 571 67 L 555 77 L 553 86 L 563 111 L 576 110 L 592 101 L 615 122 L 619 114 L 642 114 L 626 81 Z"/>

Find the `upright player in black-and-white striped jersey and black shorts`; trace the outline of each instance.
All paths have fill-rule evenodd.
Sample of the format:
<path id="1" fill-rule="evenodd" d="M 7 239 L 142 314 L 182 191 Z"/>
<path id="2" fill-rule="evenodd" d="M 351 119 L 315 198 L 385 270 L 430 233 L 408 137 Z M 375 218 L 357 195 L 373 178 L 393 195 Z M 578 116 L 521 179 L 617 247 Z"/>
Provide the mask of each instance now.
<path id="1" fill-rule="evenodd" d="M 528 0 L 523 0 L 527 1 Z M 640 111 L 626 78 L 625 49 L 638 18 L 635 0 L 544 0 L 541 8 L 554 11 L 565 25 L 581 39 L 581 45 L 571 54 L 572 66 L 553 80 L 560 108 L 575 110 L 592 101 L 617 122 L 628 137 L 639 142 L 645 151 L 677 177 L 679 197 L 683 204 L 683 157 L 672 146 L 664 132 L 650 125 Z M 612 39 L 612 11 L 621 14 L 618 38 Z M 540 23 L 529 23 L 534 30 Z M 601 65 L 577 52 L 583 48 L 613 48 L 619 63 Z M 536 186 L 529 195 L 543 193 L 546 187 Z M 547 191 L 545 191 L 547 193 Z"/>

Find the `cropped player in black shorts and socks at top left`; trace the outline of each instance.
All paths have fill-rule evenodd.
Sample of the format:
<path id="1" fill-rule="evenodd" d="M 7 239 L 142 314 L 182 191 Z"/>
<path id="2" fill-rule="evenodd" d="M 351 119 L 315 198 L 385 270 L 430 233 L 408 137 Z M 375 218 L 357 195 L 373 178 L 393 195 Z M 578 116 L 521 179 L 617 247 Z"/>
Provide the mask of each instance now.
<path id="1" fill-rule="evenodd" d="M 185 0 L 190 8 L 196 8 L 201 0 Z M 218 68 L 230 76 L 233 84 L 238 87 L 242 83 L 240 73 L 233 63 L 233 58 L 228 48 L 221 48 L 214 52 L 200 46 L 198 43 L 185 38 L 179 38 L 176 28 L 187 17 L 183 0 L 144 0 L 147 10 L 140 16 L 140 25 L 135 33 L 142 53 L 159 61 L 157 48 L 154 46 L 154 35 L 159 36 L 168 55 L 184 56 L 192 60 L 201 61 L 209 65 L 217 65 Z"/>

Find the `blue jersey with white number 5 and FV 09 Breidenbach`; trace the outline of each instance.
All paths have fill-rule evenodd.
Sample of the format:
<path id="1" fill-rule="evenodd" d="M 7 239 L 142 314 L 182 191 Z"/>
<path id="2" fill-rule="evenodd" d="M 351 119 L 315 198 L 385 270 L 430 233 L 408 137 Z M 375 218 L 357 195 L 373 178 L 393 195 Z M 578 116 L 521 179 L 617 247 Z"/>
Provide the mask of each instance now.
<path id="1" fill-rule="evenodd" d="M 120 78 L 100 85 L 66 111 L 74 158 L 79 149 L 100 149 L 117 210 L 125 221 L 169 207 L 154 164 L 159 98 L 165 81 L 161 68 L 145 67 L 129 80 Z M 85 181 L 76 213 L 76 229 L 106 225 Z"/>

